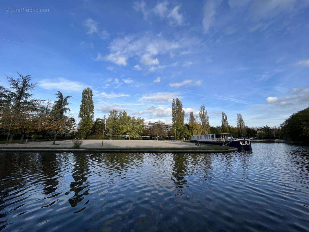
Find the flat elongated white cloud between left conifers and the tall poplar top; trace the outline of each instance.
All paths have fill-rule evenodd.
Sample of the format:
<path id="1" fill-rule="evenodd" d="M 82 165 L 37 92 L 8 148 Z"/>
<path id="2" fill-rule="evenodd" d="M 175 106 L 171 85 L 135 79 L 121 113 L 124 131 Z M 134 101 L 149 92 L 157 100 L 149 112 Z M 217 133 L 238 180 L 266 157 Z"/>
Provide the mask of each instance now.
<path id="1" fill-rule="evenodd" d="M 48 90 L 55 89 L 57 91 L 64 90 L 68 92 L 81 91 L 84 88 L 87 88 L 86 85 L 78 81 L 72 81 L 65 78 L 42 79 L 39 81 L 38 86 Z"/>

